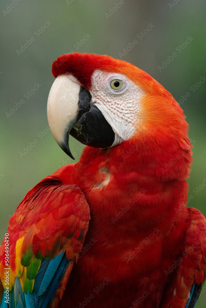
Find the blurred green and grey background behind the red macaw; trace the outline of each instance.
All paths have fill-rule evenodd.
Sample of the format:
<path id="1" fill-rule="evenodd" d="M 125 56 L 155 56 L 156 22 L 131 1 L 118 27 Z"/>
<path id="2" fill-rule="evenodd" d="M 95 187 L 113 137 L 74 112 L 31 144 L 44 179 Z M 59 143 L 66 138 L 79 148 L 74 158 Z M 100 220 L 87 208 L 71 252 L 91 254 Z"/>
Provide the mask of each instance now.
<path id="1" fill-rule="evenodd" d="M 63 164 L 71 162 L 47 130 L 46 114 L 48 93 L 54 81 L 52 62 L 71 51 L 107 54 L 133 63 L 181 103 L 194 145 L 194 163 L 188 179 L 189 195 L 192 195 L 189 206 L 206 215 L 206 187 L 202 184 L 206 178 L 206 82 L 199 83 L 206 67 L 206 2 L 14 2 L 1 2 L 0 239 L 28 190 Z M 47 28 L 44 28 L 45 21 Z M 152 24 L 149 31 L 146 30 L 148 24 Z M 87 40 L 83 40 L 85 34 L 89 36 Z M 187 37 L 191 38 L 190 42 Z M 133 46 L 131 43 L 135 39 L 138 43 Z M 30 45 L 20 50 L 26 40 Z M 131 50 L 126 53 L 124 48 Z M 121 55 L 123 51 L 124 56 Z M 172 59 L 174 52 L 177 56 Z M 165 68 L 160 68 L 162 65 Z M 39 88 L 33 91 L 35 83 Z M 25 94 L 27 92 L 29 94 Z M 24 103 L 20 105 L 21 100 Z M 26 155 L 20 156 L 19 152 L 23 153 L 24 147 L 34 139 L 38 143 Z M 78 141 L 70 137 L 71 152 L 77 152 L 75 161 L 81 155 L 78 145 Z M 206 293 L 196 307 L 205 307 L 205 302 Z"/>

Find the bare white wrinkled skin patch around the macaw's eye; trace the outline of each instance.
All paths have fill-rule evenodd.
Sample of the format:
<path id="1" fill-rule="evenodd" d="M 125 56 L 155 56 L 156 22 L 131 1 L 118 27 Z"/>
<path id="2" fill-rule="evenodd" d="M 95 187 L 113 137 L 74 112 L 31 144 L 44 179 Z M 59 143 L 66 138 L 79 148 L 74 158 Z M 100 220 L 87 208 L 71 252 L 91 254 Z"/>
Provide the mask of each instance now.
<path id="1" fill-rule="evenodd" d="M 112 88 L 114 79 L 122 81 L 120 89 Z M 137 130 L 140 99 L 144 91 L 119 73 L 96 70 L 91 82 L 92 103 L 102 112 L 115 133 L 112 146 L 131 138 Z"/>

